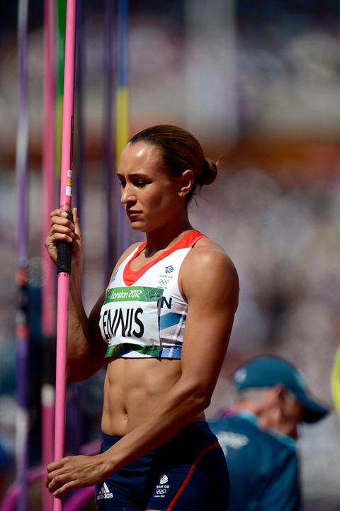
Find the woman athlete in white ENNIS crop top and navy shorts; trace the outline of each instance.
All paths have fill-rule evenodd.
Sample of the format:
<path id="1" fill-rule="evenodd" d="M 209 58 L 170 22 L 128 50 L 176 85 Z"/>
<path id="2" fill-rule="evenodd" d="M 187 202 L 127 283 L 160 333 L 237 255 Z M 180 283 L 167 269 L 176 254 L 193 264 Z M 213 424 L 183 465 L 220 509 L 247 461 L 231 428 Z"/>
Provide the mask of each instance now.
<path id="1" fill-rule="evenodd" d="M 47 251 L 72 242 L 67 377 L 84 381 L 107 364 L 96 456 L 47 466 L 47 487 L 96 485 L 98 510 L 227 510 L 225 456 L 204 410 L 225 359 L 237 309 L 237 271 L 225 251 L 195 230 L 188 202 L 216 164 L 191 133 L 157 125 L 137 133 L 118 167 L 121 202 L 146 241 L 118 260 L 86 316 L 83 252 L 74 208 L 51 213 Z"/>

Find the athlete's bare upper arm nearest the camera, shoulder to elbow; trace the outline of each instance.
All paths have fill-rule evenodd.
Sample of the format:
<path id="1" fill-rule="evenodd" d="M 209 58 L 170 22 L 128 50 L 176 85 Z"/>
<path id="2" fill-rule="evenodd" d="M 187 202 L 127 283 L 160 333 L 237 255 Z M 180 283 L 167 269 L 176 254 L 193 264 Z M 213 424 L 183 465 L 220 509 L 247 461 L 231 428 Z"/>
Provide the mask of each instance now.
<path id="1" fill-rule="evenodd" d="M 211 395 L 227 352 L 237 309 L 237 271 L 224 253 L 217 252 L 204 255 L 184 279 L 188 314 L 182 371 L 199 378 Z"/>

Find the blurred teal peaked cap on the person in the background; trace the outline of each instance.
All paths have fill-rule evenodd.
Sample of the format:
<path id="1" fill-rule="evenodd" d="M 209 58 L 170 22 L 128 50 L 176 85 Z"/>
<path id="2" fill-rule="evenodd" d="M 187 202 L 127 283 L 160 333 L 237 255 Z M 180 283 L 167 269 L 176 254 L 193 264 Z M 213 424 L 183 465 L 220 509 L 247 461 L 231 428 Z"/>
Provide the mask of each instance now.
<path id="1" fill-rule="evenodd" d="M 246 361 L 232 375 L 235 390 L 282 385 L 292 392 L 305 410 L 304 422 L 317 422 L 329 412 L 307 389 L 305 378 L 293 364 L 279 356 L 260 355 Z"/>

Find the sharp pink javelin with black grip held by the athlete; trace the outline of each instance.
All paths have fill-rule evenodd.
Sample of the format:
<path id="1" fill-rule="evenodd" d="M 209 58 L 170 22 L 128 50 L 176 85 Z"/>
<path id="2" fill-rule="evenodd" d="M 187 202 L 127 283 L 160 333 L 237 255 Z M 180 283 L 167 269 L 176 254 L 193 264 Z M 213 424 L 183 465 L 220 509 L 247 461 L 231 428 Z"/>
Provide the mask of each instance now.
<path id="1" fill-rule="evenodd" d="M 62 112 L 62 168 L 60 184 L 60 207 L 72 214 L 72 150 L 74 118 L 74 69 L 76 48 L 77 0 L 67 0 L 64 105 Z M 68 244 L 65 244 L 65 246 Z M 66 250 L 69 260 L 60 265 L 58 247 L 58 298 L 57 298 L 57 361 L 55 384 L 55 459 L 64 456 L 66 416 L 66 361 L 67 361 L 67 301 L 69 296 L 69 274 L 71 252 Z M 70 247 L 67 247 L 70 248 Z M 64 249 L 63 249 L 64 250 Z M 64 267 L 67 269 L 65 270 Z M 53 510 L 62 510 L 62 499 L 54 498 Z"/>

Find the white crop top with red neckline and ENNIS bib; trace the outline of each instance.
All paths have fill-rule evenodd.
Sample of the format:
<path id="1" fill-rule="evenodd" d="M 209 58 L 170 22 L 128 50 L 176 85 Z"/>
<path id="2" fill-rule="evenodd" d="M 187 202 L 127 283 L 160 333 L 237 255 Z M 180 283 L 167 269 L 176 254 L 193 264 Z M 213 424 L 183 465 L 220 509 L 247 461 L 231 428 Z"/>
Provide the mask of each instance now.
<path id="1" fill-rule="evenodd" d="M 138 271 L 130 269 L 147 242 L 118 267 L 106 290 L 99 326 L 106 356 L 181 359 L 188 303 L 178 278 L 186 254 L 205 235 L 188 232 Z"/>

